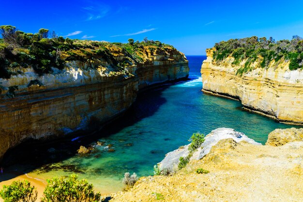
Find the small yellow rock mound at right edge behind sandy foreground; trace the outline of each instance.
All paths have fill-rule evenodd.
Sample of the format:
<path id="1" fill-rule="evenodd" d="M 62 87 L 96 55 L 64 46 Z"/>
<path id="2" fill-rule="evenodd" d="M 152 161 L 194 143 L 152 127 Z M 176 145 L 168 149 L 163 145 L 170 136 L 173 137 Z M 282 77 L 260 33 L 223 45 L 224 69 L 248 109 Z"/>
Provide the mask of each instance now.
<path id="1" fill-rule="evenodd" d="M 303 141 L 303 128 L 276 129 L 269 133 L 266 145 L 282 146 L 289 142 Z"/>

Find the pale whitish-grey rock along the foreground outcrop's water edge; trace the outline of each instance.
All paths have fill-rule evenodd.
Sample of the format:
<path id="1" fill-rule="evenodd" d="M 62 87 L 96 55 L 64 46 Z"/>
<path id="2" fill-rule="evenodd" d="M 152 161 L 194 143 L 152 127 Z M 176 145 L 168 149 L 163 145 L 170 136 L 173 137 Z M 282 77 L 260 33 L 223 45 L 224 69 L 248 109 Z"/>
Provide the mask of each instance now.
<path id="1" fill-rule="evenodd" d="M 212 130 L 211 133 L 205 136 L 205 141 L 201 147 L 194 152 L 191 159 L 202 159 L 205 155 L 207 155 L 213 145 L 217 144 L 222 139 L 231 138 L 236 142 L 246 141 L 250 144 L 261 145 L 261 143 L 255 142 L 253 139 L 248 138 L 244 133 L 237 132 L 234 129 L 228 128 L 218 128 L 216 130 Z M 173 170 L 178 166 L 180 157 L 187 157 L 189 154 L 188 145 L 184 145 L 179 147 L 172 152 L 166 154 L 166 157 L 159 163 L 159 167 L 163 169 Z"/>

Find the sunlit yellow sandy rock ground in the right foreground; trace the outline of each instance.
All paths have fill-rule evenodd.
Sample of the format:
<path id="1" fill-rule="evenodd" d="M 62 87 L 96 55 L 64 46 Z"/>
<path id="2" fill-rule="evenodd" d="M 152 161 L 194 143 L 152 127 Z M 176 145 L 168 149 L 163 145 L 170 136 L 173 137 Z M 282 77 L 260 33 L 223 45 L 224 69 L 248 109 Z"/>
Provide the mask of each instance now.
<path id="1" fill-rule="evenodd" d="M 219 140 L 171 176 L 141 177 L 111 201 L 302 201 L 303 142 L 276 147 L 235 140 Z M 210 173 L 198 174 L 201 168 Z"/>

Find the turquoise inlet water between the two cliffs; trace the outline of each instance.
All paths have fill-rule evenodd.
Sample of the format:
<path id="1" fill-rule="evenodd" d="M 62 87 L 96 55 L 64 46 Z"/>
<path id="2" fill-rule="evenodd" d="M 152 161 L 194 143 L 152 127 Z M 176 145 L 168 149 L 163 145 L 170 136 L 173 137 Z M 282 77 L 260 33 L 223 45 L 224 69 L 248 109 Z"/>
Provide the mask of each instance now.
<path id="1" fill-rule="evenodd" d="M 205 57 L 187 58 L 191 80 L 146 91 L 139 95 L 127 115 L 106 129 L 65 143 L 74 144 L 73 148 L 92 144 L 92 154 L 77 155 L 75 149 L 68 158 L 52 157 L 55 159 L 52 166 L 57 166 L 56 169 L 38 168 L 30 174 L 48 178 L 77 172 L 101 192 L 109 193 L 121 190 L 125 172 L 152 175 L 153 165 L 169 151 L 188 144 L 194 132 L 207 134 L 216 128 L 228 127 L 264 144 L 272 130 L 293 127 L 243 111 L 239 101 L 204 94 L 200 66 Z M 96 146 L 96 141 L 105 142 L 105 146 Z M 109 152 L 107 144 L 112 144 L 115 151 Z M 63 146 L 46 145 L 45 149 L 50 147 L 60 151 Z"/>

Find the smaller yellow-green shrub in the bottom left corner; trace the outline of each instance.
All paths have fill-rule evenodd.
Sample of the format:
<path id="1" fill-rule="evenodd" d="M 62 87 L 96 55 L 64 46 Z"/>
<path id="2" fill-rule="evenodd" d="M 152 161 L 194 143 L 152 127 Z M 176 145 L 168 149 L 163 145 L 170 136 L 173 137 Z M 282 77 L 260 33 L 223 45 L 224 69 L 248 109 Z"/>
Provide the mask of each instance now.
<path id="1" fill-rule="evenodd" d="M 37 190 L 27 180 L 14 181 L 9 186 L 3 186 L 0 190 L 0 197 L 4 202 L 35 202 Z"/>

